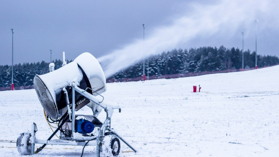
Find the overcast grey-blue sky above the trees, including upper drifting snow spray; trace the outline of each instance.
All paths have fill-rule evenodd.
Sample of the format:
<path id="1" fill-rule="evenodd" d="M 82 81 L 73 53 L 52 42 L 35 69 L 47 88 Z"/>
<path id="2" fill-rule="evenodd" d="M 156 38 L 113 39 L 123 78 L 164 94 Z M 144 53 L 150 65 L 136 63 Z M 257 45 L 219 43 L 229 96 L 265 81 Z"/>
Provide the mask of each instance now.
<path id="1" fill-rule="evenodd" d="M 255 51 L 256 18 L 259 19 L 257 53 L 278 56 L 278 2 L 247 0 L 243 3 L 240 0 L 214 3 L 183 0 L 1 0 L 0 65 L 12 64 L 11 28 L 15 29 L 16 64 L 49 62 L 49 50 L 52 50 L 52 59 L 62 59 L 65 51 L 69 60 L 83 52 L 101 58 L 125 51 L 126 47 L 143 39 L 143 23 L 146 24 L 145 44 L 152 43 L 146 47 L 153 49 L 152 46 L 162 44 L 160 49 L 154 48 L 150 54 L 201 46 L 224 45 L 242 49 L 242 31 L 244 49 Z M 166 34 L 167 38 L 154 40 L 159 34 Z M 133 49 L 137 54 L 137 47 Z M 130 53 L 133 49 L 129 49 Z"/>

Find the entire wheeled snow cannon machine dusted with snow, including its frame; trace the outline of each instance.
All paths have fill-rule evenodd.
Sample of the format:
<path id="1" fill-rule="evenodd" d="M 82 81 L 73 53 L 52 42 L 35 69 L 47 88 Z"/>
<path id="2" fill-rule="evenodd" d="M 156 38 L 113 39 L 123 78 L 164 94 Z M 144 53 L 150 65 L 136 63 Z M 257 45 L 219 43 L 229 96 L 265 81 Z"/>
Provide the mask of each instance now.
<path id="1" fill-rule="evenodd" d="M 64 56 L 63 56 L 64 57 Z M 98 60 L 90 53 L 82 53 L 73 62 L 43 75 L 35 75 L 34 87 L 49 122 L 57 122 L 58 128 L 47 140 L 35 137 L 37 126 L 31 125 L 31 133 L 22 133 L 17 139 L 17 150 L 22 155 L 32 155 L 41 151 L 47 144 L 58 145 L 96 145 L 96 156 L 103 152 L 105 156 L 117 156 L 120 152 L 120 140 L 133 151 L 118 133 L 110 128 L 113 109 L 118 106 L 106 105 L 95 96 L 106 91 L 105 75 Z M 102 97 L 103 98 L 103 97 Z M 72 107 L 74 106 L 74 108 Z M 93 115 L 76 115 L 84 106 L 92 109 Z M 103 108 L 106 119 L 102 123 L 98 114 Z M 77 117 L 84 117 L 77 119 Z M 95 131 L 95 135 L 92 133 Z M 59 140 L 51 138 L 60 131 Z M 87 141 L 87 142 L 86 142 Z M 35 143 L 43 144 L 35 151 Z"/>

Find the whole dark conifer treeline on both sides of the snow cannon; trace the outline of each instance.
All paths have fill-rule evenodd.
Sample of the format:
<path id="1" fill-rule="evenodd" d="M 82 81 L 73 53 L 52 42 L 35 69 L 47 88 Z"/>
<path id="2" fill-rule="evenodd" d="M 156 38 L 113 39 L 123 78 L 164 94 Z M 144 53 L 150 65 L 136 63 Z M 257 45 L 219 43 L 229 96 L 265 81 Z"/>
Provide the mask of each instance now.
<path id="1" fill-rule="evenodd" d="M 71 61 L 67 60 L 67 63 Z M 53 60 L 55 69 L 62 66 L 61 60 Z M 276 56 L 257 55 L 257 66 L 269 66 L 279 63 Z M 102 63 L 101 63 L 102 64 Z M 12 76 L 6 70 L 11 67 L 0 65 L 0 87 L 11 85 Z M 255 67 L 255 52 L 248 49 L 244 51 L 244 68 Z M 168 52 L 149 57 L 149 76 L 178 74 L 188 72 L 217 71 L 225 69 L 242 68 L 242 51 L 234 47 L 227 49 L 223 46 L 200 47 L 191 49 L 173 49 Z M 8 72 L 11 74 L 11 69 Z M 49 72 L 49 63 L 42 61 L 37 63 L 23 63 L 14 65 L 14 86 L 33 85 L 35 74 Z M 142 76 L 143 60 L 117 72 L 111 78 L 133 78 Z M 147 58 L 145 59 L 145 75 L 147 76 Z"/>

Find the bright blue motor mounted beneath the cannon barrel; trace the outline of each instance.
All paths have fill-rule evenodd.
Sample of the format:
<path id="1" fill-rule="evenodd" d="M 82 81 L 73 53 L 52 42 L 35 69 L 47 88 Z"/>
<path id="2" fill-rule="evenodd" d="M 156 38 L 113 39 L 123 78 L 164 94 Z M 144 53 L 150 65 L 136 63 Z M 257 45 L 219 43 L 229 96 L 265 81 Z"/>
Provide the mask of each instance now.
<path id="1" fill-rule="evenodd" d="M 94 130 L 94 124 L 86 119 L 76 119 L 76 132 L 81 134 L 91 133 Z"/>

